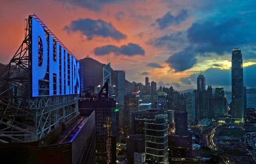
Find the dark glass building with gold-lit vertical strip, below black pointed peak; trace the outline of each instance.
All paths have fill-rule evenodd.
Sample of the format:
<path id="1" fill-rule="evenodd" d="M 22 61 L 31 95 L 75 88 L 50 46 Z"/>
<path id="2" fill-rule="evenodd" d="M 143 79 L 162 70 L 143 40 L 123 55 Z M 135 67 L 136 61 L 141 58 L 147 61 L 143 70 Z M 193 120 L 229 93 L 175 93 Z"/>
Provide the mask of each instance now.
<path id="1" fill-rule="evenodd" d="M 95 111 L 95 163 L 116 162 L 116 108 L 114 99 L 79 101 L 81 114 Z"/>

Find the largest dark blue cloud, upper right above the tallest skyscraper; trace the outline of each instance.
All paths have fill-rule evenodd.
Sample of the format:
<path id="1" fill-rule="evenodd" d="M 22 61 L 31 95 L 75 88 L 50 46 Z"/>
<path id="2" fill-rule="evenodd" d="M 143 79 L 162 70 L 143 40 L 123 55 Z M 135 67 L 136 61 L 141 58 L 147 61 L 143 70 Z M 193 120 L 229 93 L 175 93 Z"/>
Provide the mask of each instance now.
<path id="1" fill-rule="evenodd" d="M 194 44 L 198 53 L 215 52 L 223 55 L 232 51 L 235 45 L 252 42 L 252 36 L 245 31 L 245 22 L 240 18 L 231 18 L 226 22 L 206 21 L 194 23 L 187 30 L 187 39 Z"/>

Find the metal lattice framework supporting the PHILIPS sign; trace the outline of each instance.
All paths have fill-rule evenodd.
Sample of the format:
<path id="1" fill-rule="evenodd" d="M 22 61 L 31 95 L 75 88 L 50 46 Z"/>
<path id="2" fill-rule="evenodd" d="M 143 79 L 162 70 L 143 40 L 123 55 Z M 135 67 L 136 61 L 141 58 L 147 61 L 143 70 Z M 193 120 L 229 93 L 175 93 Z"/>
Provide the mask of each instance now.
<path id="1" fill-rule="evenodd" d="M 40 140 L 78 114 L 79 95 L 49 96 L 47 80 L 39 84 L 40 96 L 32 97 L 32 18 L 72 55 L 36 15 L 25 19 L 24 41 L 0 76 L 0 142 L 4 143 Z"/>

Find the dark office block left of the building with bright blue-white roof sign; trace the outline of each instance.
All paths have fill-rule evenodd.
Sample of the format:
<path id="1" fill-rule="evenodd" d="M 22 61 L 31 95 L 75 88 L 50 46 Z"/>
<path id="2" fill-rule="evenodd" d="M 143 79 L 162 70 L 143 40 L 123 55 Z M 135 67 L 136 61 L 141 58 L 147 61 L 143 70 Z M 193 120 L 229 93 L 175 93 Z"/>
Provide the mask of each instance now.
<path id="1" fill-rule="evenodd" d="M 123 110 L 123 135 L 131 134 L 131 112 L 137 111 L 137 108 L 138 96 L 125 95 Z"/>

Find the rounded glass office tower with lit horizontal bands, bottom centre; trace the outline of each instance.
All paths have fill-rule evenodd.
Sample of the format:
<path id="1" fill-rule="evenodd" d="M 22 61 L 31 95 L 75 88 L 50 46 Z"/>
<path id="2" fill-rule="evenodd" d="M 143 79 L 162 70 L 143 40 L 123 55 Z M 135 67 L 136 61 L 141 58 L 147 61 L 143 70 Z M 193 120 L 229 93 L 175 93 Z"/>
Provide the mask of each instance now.
<path id="1" fill-rule="evenodd" d="M 155 123 L 145 122 L 146 162 L 168 164 L 168 116 L 158 114 Z"/>

